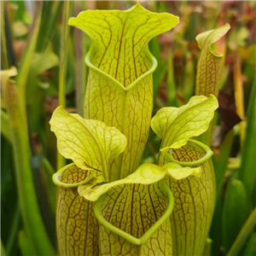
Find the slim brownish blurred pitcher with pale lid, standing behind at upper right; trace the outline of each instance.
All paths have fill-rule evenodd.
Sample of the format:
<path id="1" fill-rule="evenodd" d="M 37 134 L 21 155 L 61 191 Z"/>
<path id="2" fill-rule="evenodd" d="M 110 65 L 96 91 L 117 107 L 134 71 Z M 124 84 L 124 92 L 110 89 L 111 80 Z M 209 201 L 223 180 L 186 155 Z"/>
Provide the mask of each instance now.
<path id="1" fill-rule="evenodd" d="M 211 45 L 229 30 L 230 25 L 226 24 L 217 29 L 203 32 L 195 38 L 201 49 L 196 69 L 195 95 L 218 96 L 223 55 L 212 52 Z"/>

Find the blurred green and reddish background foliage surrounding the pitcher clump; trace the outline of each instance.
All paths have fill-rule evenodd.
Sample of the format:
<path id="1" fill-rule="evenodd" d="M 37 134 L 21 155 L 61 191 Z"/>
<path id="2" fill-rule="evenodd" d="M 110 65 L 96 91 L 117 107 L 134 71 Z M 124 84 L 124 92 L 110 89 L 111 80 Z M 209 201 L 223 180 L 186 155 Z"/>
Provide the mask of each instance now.
<path id="1" fill-rule="evenodd" d="M 129 9 L 135 2 L 1 1 L 0 69 L 18 69 L 10 83 L 17 94 L 10 100 L 4 91 L 0 95 L 1 255 L 56 252 L 51 176 L 66 162 L 57 154 L 49 119 L 59 104 L 83 115 L 88 73 L 84 55 L 90 48 L 90 38 L 67 26 L 68 18 L 85 9 Z M 212 47 L 225 56 L 211 142 L 216 207 L 204 256 L 256 255 L 256 2 L 141 3 L 154 12 L 180 17 L 176 28 L 149 44 L 159 63 L 154 72 L 154 113 L 166 106 L 180 107 L 195 95 L 200 55 L 195 37 L 230 23 L 230 32 Z M 16 118 L 11 111 L 19 113 Z M 20 137 L 24 143 L 17 142 Z M 154 163 L 159 148 L 160 139 L 150 132 L 142 163 Z M 45 253 L 42 247 L 47 247 Z"/>

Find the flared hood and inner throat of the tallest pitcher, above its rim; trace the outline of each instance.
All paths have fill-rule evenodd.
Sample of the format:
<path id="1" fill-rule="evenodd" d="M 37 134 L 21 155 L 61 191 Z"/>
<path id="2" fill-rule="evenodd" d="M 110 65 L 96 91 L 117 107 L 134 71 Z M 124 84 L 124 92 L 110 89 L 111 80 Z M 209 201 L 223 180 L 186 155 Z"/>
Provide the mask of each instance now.
<path id="1" fill-rule="evenodd" d="M 88 10 L 69 20 L 91 38 L 90 63 L 124 87 L 152 67 L 145 50 L 149 40 L 177 23 L 176 16 L 152 13 L 140 4 L 127 11 Z"/>

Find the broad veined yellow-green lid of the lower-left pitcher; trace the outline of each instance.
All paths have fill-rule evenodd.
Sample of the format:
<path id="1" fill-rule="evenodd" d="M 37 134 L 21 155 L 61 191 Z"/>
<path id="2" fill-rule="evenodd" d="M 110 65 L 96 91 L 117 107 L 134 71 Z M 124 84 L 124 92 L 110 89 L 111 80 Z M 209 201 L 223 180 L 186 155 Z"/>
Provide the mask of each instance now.
<path id="1" fill-rule="evenodd" d="M 126 147 L 125 136 L 101 121 L 83 119 L 58 107 L 49 121 L 58 139 L 58 150 L 84 170 L 95 168 L 108 181 L 109 161 Z"/>

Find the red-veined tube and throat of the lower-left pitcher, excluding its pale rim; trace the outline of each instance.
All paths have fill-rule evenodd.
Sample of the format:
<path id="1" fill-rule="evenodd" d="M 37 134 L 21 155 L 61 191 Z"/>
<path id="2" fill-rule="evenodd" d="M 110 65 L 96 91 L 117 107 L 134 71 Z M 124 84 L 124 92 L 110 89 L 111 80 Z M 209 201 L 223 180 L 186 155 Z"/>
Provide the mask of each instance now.
<path id="1" fill-rule="evenodd" d="M 79 183 L 88 171 L 73 165 L 61 176 L 62 183 Z M 58 187 L 56 228 L 62 256 L 98 255 L 98 224 L 92 202 L 79 196 L 78 187 Z"/>

